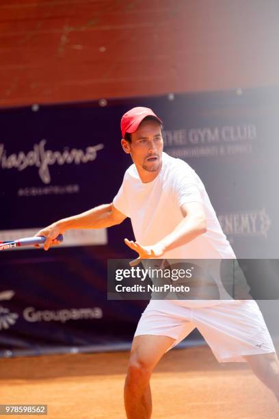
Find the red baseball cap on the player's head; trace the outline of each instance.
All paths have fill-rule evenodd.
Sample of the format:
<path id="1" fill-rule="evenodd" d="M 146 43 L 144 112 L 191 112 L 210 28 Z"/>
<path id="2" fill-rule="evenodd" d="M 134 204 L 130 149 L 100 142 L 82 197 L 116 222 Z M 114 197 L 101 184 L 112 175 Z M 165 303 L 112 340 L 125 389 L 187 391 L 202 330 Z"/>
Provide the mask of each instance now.
<path id="1" fill-rule="evenodd" d="M 153 116 L 159 123 L 163 123 L 162 120 L 155 115 L 152 109 L 149 109 L 149 107 L 133 107 L 133 109 L 126 112 L 126 114 L 124 114 L 121 118 L 122 138 L 124 138 L 127 132 L 129 132 L 129 134 L 133 134 L 133 132 L 137 131 L 139 124 L 142 120 L 144 120 L 144 118 L 146 118 L 146 116 Z"/>

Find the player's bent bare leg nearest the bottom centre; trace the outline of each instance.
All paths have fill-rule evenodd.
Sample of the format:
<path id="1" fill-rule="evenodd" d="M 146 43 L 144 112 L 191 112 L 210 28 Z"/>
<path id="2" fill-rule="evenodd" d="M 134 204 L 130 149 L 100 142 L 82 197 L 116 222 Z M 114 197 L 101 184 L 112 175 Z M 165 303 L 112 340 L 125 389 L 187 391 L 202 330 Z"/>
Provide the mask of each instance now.
<path id="1" fill-rule="evenodd" d="M 128 419 L 150 419 L 152 400 L 150 376 L 174 339 L 168 336 L 139 335 L 133 340 L 124 387 Z"/>

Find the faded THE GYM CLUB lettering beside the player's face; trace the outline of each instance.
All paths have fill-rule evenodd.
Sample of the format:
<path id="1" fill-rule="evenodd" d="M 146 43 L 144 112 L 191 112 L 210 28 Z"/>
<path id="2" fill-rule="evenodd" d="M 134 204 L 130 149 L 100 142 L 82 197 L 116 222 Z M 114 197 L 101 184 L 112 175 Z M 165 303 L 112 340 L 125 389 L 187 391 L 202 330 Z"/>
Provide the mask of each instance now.
<path id="1" fill-rule="evenodd" d="M 163 131 L 166 151 L 180 158 L 250 154 L 256 138 L 252 124 Z"/>

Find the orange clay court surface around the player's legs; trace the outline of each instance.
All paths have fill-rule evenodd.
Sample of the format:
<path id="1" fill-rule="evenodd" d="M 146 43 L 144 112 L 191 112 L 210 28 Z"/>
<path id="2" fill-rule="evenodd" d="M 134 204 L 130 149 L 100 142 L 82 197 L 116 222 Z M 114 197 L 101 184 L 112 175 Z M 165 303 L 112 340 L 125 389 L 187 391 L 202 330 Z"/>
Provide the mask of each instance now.
<path id="1" fill-rule="evenodd" d="M 47 404 L 48 415 L 41 417 L 49 419 L 124 419 L 128 357 L 118 352 L 0 359 L 1 404 Z M 152 419 L 279 418 L 276 398 L 246 364 L 220 365 L 207 346 L 167 353 L 151 385 Z"/>

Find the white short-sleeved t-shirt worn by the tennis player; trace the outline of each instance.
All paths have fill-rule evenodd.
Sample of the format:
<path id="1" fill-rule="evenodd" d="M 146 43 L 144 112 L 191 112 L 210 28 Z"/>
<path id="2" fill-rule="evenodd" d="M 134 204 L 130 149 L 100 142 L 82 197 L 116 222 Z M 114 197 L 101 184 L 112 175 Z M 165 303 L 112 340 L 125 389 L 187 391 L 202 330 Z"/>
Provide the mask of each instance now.
<path id="1" fill-rule="evenodd" d="M 191 242 L 166 252 L 166 259 L 231 259 L 235 253 L 224 235 L 200 177 L 183 160 L 163 153 L 157 177 L 142 183 L 135 164 L 124 174 L 114 206 L 131 218 L 135 240 L 143 246 L 156 244 L 183 220 L 181 205 L 199 202 L 207 218 L 207 231 Z M 220 301 L 177 301 L 187 307 L 207 307 Z"/>

